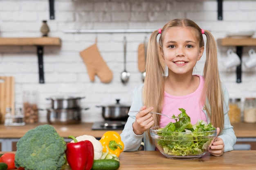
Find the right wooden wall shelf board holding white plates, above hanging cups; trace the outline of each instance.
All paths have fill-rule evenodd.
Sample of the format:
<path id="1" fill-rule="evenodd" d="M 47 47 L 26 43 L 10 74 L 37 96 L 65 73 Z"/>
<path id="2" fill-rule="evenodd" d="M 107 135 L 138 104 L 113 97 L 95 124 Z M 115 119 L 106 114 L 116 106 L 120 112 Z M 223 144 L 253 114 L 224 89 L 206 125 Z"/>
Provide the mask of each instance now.
<path id="1" fill-rule="evenodd" d="M 256 46 L 256 38 L 223 38 L 218 41 L 222 46 Z"/>

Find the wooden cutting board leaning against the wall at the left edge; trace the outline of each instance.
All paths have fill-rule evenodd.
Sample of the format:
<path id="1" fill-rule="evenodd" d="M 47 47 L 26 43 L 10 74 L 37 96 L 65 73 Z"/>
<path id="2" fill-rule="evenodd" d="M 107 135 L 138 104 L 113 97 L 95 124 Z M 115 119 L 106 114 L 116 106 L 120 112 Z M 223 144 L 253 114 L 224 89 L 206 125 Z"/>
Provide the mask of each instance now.
<path id="1" fill-rule="evenodd" d="M 14 85 L 14 77 L 0 76 L 0 113 L 2 117 L 1 123 L 4 123 L 6 107 L 11 107 L 11 113 L 14 114 Z"/>

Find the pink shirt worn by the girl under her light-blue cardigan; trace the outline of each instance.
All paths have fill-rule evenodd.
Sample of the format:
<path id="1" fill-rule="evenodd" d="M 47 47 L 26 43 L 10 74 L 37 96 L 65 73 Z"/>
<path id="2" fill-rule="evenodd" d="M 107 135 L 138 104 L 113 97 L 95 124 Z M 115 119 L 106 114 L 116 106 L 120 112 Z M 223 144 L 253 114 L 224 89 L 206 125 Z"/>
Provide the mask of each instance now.
<path id="1" fill-rule="evenodd" d="M 199 76 L 200 83 L 195 92 L 185 95 L 185 96 L 172 96 L 166 92 L 164 92 L 164 105 L 162 109 L 162 113 L 168 116 L 178 116 L 181 113 L 179 108 L 183 108 L 186 110 L 186 113 L 191 118 L 191 124 L 195 124 L 198 120 L 206 120 L 205 113 L 202 111 L 203 104 L 201 103 L 201 95 L 204 85 L 204 78 Z M 166 126 L 169 122 L 175 122 L 175 120 L 171 120 L 166 118 L 165 116 L 161 116 L 160 118 L 160 126 Z"/>

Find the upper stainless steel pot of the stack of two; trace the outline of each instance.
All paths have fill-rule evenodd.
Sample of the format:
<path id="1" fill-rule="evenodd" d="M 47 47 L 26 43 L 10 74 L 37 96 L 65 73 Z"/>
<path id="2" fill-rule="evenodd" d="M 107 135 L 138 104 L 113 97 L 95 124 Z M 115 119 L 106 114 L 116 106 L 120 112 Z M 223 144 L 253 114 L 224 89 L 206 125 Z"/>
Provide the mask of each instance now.
<path id="1" fill-rule="evenodd" d="M 52 101 L 52 109 L 77 109 L 81 107 L 81 99 L 85 97 L 55 96 L 46 98 Z"/>

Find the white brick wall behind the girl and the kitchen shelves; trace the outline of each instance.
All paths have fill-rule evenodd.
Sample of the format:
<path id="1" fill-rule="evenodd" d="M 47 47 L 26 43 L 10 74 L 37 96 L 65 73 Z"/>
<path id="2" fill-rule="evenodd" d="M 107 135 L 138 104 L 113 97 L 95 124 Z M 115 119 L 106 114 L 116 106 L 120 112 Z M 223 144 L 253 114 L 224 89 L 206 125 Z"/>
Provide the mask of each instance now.
<path id="1" fill-rule="evenodd" d="M 230 31 L 256 31 L 255 0 L 224 0 L 223 20 L 217 20 L 217 0 L 55 0 L 55 20 L 49 20 L 48 0 L 0 0 L 1 37 L 40 37 L 42 20 L 47 20 L 49 36 L 60 37 L 61 47 L 44 48 L 45 84 L 38 83 L 38 65 L 34 46 L 0 46 L 0 75 L 16 78 L 16 106 L 22 106 L 22 92 L 37 90 L 39 107 L 49 107 L 47 97 L 55 94 L 85 96 L 83 122 L 103 120 L 101 108 L 96 105 L 130 104 L 132 90 L 141 81 L 137 68 L 137 48 L 146 33 L 63 33 L 65 29 L 158 29 L 173 18 L 194 20 L 209 29 L 216 39 Z M 123 85 L 120 73 L 124 70 L 123 37 L 126 35 L 127 70 L 129 83 Z M 103 59 L 113 72 L 109 84 L 98 77 L 90 82 L 88 72 L 79 52 L 95 42 Z M 254 37 L 256 37 L 254 35 Z M 230 97 L 256 97 L 256 69 L 243 67 L 242 83 L 236 83 L 235 68 L 227 70 L 222 61 L 229 47 L 218 46 L 221 78 Z M 235 47 L 231 47 L 234 50 Z M 248 59 L 250 48 L 243 49 L 243 61 Z M 205 57 L 205 56 L 204 56 Z M 196 73 L 202 74 L 204 59 L 198 62 Z M 40 122 L 46 122 L 46 111 L 40 111 Z"/>

